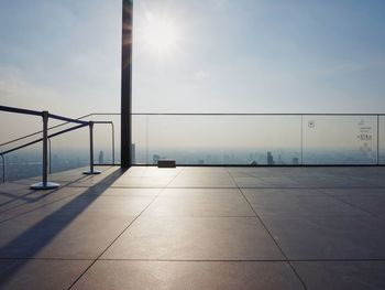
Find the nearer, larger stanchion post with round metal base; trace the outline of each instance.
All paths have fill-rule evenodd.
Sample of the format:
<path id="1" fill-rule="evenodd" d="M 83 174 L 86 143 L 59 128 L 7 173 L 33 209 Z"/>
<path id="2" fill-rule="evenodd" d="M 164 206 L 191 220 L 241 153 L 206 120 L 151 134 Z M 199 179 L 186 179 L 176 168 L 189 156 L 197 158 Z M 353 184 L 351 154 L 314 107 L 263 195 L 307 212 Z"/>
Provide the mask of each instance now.
<path id="1" fill-rule="evenodd" d="M 48 111 L 42 111 L 43 117 L 43 181 L 31 185 L 31 190 L 53 190 L 59 184 L 48 182 Z"/>

